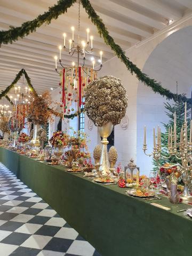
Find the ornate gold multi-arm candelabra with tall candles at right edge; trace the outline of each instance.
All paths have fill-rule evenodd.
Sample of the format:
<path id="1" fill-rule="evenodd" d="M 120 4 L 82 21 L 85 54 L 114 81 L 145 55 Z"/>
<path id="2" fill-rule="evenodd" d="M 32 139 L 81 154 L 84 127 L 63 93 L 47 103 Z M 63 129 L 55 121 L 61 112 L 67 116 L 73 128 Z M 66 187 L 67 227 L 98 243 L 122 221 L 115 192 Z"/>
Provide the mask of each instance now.
<path id="1" fill-rule="evenodd" d="M 146 143 L 146 126 L 144 127 L 144 142 L 143 142 L 143 151 L 147 156 L 153 156 L 153 158 L 159 161 L 159 158 L 162 157 L 164 159 L 169 159 L 171 156 L 174 156 L 178 160 L 181 161 L 181 164 L 177 164 L 180 166 L 182 172 L 182 180 L 184 182 L 184 191 L 182 195 L 182 199 L 189 201 L 192 199 L 190 196 L 188 185 L 191 181 L 192 174 L 192 120 L 190 120 L 190 135 L 188 140 L 187 134 L 187 104 L 185 103 L 185 121 L 181 127 L 180 131 L 180 142 L 177 142 L 177 125 L 176 125 L 176 114 L 174 113 L 174 129 L 169 127 L 169 135 L 168 135 L 168 146 L 167 152 L 169 156 L 165 157 L 162 154 L 162 145 L 161 145 L 161 129 L 158 127 L 157 129 L 157 143 L 156 143 L 156 135 L 154 129 L 154 149 L 153 153 L 146 154 L 147 143 Z M 174 141 L 174 142 L 173 142 Z M 160 165 L 158 164 L 160 167 Z"/>

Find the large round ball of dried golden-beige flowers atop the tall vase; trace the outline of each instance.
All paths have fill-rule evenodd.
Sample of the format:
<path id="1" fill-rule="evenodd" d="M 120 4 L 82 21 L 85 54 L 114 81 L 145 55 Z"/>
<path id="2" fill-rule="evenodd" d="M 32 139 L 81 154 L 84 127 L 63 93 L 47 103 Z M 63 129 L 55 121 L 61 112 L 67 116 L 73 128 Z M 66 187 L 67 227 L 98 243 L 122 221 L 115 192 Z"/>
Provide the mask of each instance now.
<path id="1" fill-rule="evenodd" d="M 127 108 L 126 90 L 120 79 L 103 76 L 89 83 L 85 91 L 85 111 L 96 126 L 119 124 Z"/>

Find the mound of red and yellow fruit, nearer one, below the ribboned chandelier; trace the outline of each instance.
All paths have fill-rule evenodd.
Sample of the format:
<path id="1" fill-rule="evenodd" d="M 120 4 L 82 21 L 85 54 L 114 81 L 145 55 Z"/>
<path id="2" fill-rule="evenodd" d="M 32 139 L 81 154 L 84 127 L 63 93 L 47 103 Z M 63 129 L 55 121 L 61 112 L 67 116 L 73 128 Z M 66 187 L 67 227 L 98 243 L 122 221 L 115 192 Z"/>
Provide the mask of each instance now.
<path id="1" fill-rule="evenodd" d="M 49 141 L 53 147 L 66 147 L 68 146 L 69 135 L 62 131 L 54 132 Z"/>

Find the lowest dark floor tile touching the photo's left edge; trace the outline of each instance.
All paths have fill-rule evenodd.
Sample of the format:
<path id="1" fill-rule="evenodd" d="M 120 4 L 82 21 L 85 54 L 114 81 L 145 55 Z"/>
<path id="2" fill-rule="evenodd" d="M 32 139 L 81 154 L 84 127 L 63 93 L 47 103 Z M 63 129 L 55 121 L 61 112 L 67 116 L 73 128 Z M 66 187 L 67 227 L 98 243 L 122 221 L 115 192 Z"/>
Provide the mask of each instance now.
<path id="1" fill-rule="evenodd" d="M 27 240 L 27 238 L 29 238 L 29 234 L 24 234 L 24 233 L 16 233 L 13 232 L 11 233 L 9 236 L 7 236 L 6 238 L 4 238 L 1 243 L 4 244 L 14 244 L 14 245 L 21 245 L 23 242 L 25 242 Z"/>

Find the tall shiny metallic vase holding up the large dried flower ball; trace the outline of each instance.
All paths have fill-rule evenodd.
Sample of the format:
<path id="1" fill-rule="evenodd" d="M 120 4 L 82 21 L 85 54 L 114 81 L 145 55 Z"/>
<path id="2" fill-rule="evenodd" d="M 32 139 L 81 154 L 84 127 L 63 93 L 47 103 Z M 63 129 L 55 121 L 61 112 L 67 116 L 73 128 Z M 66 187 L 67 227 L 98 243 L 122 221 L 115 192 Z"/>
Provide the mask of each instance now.
<path id="1" fill-rule="evenodd" d="M 107 138 L 111 134 L 112 130 L 113 130 L 113 124 L 111 122 L 107 123 L 106 125 L 98 127 L 100 137 L 102 137 L 102 140 L 101 140 L 102 152 L 101 152 L 100 167 L 99 167 L 99 171 L 102 175 L 106 175 L 107 173 L 110 173 L 109 161 L 108 161 L 108 155 L 107 155 L 107 144 L 109 143 L 109 141 L 107 140 Z"/>

